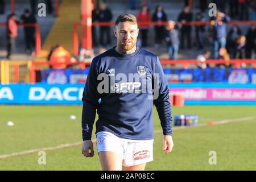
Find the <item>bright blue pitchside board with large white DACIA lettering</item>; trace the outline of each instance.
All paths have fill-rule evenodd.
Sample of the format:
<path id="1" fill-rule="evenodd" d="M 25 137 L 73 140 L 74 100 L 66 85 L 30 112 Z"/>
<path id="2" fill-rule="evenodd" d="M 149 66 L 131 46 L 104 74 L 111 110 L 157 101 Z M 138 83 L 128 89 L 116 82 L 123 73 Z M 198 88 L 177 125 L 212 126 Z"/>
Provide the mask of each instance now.
<path id="1" fill-rule="evenodd" d="M 0 104 L 82 104 L 84 84 L 0 85 Z"/>

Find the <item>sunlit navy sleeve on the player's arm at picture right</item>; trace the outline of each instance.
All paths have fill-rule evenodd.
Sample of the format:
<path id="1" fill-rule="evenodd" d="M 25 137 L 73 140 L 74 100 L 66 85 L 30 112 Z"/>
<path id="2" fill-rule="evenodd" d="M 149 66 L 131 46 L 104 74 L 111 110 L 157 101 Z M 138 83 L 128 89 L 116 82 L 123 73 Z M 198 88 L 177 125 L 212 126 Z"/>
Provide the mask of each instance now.
<path id="1" fill-rule="evenodd" d="M 159 81 L 156 81 L 156 79 Z M 158 82 L 158 87 L 154 89 L 159 90 L 159 96 L 154 103 L 156 110 L 158 111 L 163 134 L 172 135 L 172 108 L 169 98 L 169 87 L 158 57 L 155 63 L 155 75 L 153 81 L 156 83 Z"/>

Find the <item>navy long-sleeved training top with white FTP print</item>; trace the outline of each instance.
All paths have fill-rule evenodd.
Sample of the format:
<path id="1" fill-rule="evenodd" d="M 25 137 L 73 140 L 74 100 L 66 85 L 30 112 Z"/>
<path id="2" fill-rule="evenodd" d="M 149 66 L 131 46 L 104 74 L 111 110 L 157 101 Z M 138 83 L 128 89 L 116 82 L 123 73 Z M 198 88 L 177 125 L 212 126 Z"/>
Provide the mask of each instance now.
<path id="1" fill-rule="evenodd" d="M 163 134 L 172 135 L 169 88 L 158 56 L 140 47 L 127 55 L 114 48 L 94 57 L 90 65 L 82 96 L 82 139 L 92 138 L 96 110 L 96 133 L 153 139 L 153 101 Z"/>

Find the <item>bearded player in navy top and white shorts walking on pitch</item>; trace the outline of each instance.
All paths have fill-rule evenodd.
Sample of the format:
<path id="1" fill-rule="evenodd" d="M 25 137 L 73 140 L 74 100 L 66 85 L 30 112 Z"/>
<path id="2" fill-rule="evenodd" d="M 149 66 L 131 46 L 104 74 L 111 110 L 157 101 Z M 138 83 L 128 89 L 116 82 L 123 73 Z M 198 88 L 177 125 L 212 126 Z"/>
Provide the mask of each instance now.
<path id="1" fill-rule="evenodd" d="M 169 88 L 158 56 L 136 46 L 136 17 L 118 16 L 113 32 L 117 46 L 94 57 L 86 80 L 82 154 L 94 156 L 91 138 L 97 110 L 102 170 L 144 170 L 153 160 L 153 100 L 163 129 L 163 152 L 171 152 L 174 146 Z"/>

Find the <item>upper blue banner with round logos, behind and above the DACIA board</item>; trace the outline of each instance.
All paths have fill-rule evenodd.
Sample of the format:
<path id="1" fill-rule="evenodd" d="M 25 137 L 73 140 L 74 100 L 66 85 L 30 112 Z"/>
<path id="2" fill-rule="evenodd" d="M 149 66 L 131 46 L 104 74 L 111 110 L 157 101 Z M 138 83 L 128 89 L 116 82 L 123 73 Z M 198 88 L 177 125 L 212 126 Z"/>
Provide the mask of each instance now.
<path id="1" fill-rule="evenodd" d="M 48 84 L 85 83 L 89 69 L 48 69 L 41 71 L 42 82 Z M 164 69 L 170 83 L 225 82 L 229 84 L 256 84 L 254 68 Z"/>

